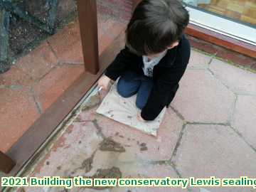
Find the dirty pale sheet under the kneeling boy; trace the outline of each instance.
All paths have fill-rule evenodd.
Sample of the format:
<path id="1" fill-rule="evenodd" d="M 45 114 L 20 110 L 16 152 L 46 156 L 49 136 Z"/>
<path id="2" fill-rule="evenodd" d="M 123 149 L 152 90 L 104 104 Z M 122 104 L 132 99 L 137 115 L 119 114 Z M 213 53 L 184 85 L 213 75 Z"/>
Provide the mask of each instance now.
<path id="1" fill-rule="evenodd" d="M 159 117 L 154 121 L 140 122 L 137 119 L 137 114 L 140 113 L 140 110 L 135 105 L 136 97 L 136 95 L 129 98 L 121 97 L 117 93 L 117 83 L 115 83 L 110 88 L 110 92 L 107 93 L 96 112 L 122 124 L 139 129 L 142 132 L 156 136 L 157 129 L 159 129 L 161 121 L 164 118 L 166 108 L 164 108 L 159 114 Z"/>

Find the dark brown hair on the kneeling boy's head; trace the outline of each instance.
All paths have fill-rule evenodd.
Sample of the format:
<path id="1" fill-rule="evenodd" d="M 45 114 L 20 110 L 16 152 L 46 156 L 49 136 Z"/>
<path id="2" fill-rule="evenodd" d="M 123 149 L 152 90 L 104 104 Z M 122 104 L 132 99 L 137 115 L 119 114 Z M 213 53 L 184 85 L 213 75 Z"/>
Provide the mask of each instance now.
<path id="1" fill-rule="evenodd" d="M 161 53 L 181 38 L 189 14 L 178 0 L 143 0 L 132 14 L 126 45 L 137 55 Z"/>

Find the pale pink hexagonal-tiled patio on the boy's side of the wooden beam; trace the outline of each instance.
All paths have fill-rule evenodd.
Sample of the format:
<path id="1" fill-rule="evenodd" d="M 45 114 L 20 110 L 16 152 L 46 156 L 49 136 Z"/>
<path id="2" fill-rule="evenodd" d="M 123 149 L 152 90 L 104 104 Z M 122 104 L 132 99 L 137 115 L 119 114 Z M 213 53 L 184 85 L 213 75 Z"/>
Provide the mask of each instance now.
<path id="1" fill-rule="evenodd" d="M 106 92 L 102 94 L 102 98 Z M 23 176 L 219 178 L 256 174 L 256 75 L 192 51 L 188 70 L 158 137 L 114 122 L 84 103 L 78 116 Z M 88 107 L 89 106 L 89 107 Z M 103 175 L 102 175 L 103 174 Z M 64 191 L 64 188 L 43 188 Z M 183 191 L 253 191 L 189 188 Z M 38 191 L 38 188 L 23 188 Z M 73 188 L 70 191 L 97 191 Z M 180 188 L 107 188 L 101 191 L 182 191 Z"/>

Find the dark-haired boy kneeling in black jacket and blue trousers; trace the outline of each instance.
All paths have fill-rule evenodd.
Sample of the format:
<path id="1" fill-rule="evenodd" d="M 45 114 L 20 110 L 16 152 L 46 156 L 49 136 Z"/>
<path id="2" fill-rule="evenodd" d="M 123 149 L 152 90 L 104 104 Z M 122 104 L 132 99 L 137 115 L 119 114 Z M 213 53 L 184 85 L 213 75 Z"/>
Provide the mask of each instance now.
<path id="1" fill-rule="evenodd" d="M 142 110 L 140 121 L 154 120 L 174 99 L 191 48 L 183 35 L 188 11 L 178 0 L 143 0 L 134 10 L 126 30 L 126 46 L 98 86 L 107 89 L 117 80 L 122 97 L 137 94 L 136 105 Z"/>

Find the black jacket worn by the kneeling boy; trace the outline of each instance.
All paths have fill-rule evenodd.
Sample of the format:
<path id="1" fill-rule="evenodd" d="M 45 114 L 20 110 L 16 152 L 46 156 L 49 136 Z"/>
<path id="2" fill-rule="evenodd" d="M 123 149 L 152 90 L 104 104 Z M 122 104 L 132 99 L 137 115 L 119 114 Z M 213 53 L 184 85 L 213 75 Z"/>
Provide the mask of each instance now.
<path id="1" fill-rule="evenodd" d="M 169 49 L 159 62 L 154 66 L 154 85 L 142 109 L 142 118 L 154 120 L 164 107 L 168 107 L 178 90 L 191 54 L 191 46 L 185 35 L 182 36 L 178 46 Z M 120 51 L 114 61 L 107 68 L 105 75 L 112 80 L 117 80 L 126 70 L 144 74 L 142 56 L 131 53 L 127 47 Z"/>

